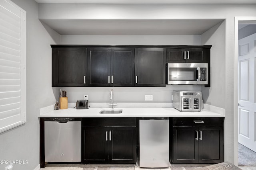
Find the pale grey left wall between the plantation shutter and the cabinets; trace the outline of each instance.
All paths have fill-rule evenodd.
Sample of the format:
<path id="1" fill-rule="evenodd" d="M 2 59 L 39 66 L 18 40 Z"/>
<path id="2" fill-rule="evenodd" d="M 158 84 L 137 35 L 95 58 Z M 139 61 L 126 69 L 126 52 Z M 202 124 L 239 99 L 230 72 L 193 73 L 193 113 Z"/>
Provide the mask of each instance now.
<path id="1" fill-rule="evenodd" d="M 50 44 L 60 43 L 60 35 L 49 28 L 49 33 L 46 31 L 38 20 L 38 4 L 34 0 L 12 1 L 27 12 L 27 122 L 0 133 L 0 160 L 27 160 L 27 165 L 14 164 L 13 170 L 33 170 L 39 164 L 38 109 L 55 102 Z M 0 169 L 6 166 L 0 164 Z"/>

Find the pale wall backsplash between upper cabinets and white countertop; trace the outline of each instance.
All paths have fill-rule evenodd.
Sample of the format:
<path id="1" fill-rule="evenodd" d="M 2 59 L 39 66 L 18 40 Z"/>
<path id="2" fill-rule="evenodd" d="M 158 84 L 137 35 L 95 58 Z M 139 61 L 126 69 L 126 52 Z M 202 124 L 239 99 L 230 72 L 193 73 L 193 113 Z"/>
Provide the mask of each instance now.
<path id="1" fill-rule="evenodd" d="M 76 102 L 88 95 L 90 102 L 108 102 L 110 90 L 114 92 L 114 102 L 172 102 L 173 90 L 200 91 L 200 85 L 166 85 L 166 87 L 52 87 L 56 101 L 59 91 L 67 91 L 68 102 Z M 145 95 L 153 95 L 152 101 L 145 101 Z M 204 98 L 204 94 L 203 98 Z"/>

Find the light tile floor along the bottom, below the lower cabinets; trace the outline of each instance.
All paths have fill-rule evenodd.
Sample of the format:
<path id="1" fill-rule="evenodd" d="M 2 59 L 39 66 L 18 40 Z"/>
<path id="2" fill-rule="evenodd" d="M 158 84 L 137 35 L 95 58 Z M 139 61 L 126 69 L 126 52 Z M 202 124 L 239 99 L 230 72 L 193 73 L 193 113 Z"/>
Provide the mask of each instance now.
<path id="1" fill-rule="evenodd" d="M 45 168 L 40 168 L 40 170 L 83 170 L 83 168 L 94 167 L 95 165 L 84 165 L 84 164 L 48 164 Z M 134 165 L 135 166 L 135 165 Z M 135 166 L 135 170 L 196 170 L 202 167 L 173 167 L 161 168 L 161 169 L 152 169 L 152 168 L 140 168 Z M 256 166 L 239 166 L 242 170 L 256 170 Z M 94 170 L 97 170 L 95 168 Z"/>

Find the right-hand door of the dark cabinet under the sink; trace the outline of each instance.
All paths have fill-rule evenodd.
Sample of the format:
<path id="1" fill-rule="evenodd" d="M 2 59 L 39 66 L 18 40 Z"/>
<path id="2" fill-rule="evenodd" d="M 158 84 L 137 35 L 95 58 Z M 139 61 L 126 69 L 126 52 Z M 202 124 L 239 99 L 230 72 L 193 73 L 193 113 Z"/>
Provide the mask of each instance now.
<path id="1" fill-rule="evenodd" d="M 109 163 L 136 162 L 136 127 L 110 127 Z"/>

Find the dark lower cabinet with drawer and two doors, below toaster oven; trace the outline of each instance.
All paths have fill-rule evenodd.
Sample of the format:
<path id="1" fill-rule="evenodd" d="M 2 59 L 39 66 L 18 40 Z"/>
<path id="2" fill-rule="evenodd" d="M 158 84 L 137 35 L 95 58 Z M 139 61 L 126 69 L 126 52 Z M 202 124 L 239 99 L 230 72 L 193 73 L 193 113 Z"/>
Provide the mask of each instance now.
<path id="1" fill-rule="evenodd" d="M 202 119 L 204 123 L 194 123 Z M 214 123 L 218 121 L 218 126 Z M 171 163 L 224 161 L 224 118 L 174 118 Z"/>

